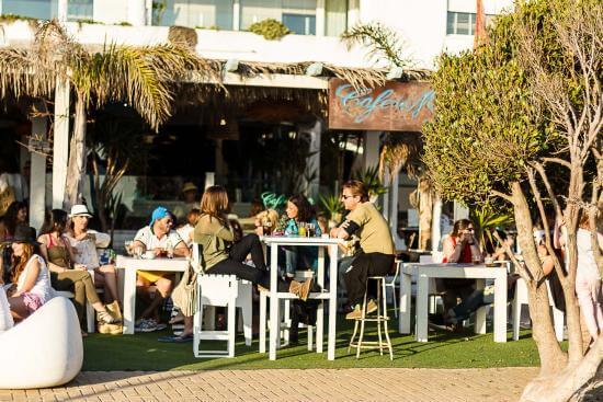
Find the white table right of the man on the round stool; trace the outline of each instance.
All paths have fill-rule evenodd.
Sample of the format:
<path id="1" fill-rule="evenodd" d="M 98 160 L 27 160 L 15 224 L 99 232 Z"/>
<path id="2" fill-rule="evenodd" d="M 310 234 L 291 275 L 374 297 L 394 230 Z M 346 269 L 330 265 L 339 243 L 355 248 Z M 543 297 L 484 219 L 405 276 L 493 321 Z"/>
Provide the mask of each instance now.
<path id="1" fill-rule="evenodd" d="M 428 306 L 430 278 L 476 279 L 483 289 L 485 279 L 494 279 L 494 342 L 507 342 L 507 267 L 474 264 L 403 264 L 400 272 L 399 332 L 410 333 L 411 277 L 417 276 L 417 341 L 428 342 Z M 486 310 L 476 312 L 476 333 L 486 333 Z"/>

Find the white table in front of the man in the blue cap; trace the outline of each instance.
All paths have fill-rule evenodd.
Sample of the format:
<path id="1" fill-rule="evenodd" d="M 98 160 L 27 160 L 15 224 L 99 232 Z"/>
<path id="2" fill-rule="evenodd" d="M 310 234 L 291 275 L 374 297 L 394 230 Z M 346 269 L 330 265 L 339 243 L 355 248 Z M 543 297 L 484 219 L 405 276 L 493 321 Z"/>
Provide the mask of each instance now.
<path id="1" fill-rule="evenodd" d="M 136 308 L 136 271 L 163 271 L 181 273 L 189 267 L 185 257 L 135 259 L 117 255 L 115 267 L 124 269 L 124 334 L 134 334 L 134 309 Z"/>

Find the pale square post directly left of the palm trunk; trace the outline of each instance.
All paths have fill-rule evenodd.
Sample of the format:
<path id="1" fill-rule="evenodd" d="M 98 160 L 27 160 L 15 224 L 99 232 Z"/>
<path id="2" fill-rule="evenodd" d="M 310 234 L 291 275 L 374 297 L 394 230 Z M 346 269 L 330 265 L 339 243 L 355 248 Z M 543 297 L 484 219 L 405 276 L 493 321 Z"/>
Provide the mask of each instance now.
<path id="1" fill-rule="evenodd" d="M 55 90 L 55 131 L 53 150 L 53 208 L 62 208 L 68 156 L 69 81 L 57 79 Z"/>

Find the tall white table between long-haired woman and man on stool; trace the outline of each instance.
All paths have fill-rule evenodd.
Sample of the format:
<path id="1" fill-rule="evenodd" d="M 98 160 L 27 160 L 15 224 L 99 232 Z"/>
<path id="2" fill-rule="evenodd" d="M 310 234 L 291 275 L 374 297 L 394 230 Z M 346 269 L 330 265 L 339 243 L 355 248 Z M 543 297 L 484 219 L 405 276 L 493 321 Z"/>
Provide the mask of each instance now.
<path id="1" fill-rule="evenodd" d="M 278 274 L 278 246 L 280 245 L 304 245 L 318 248 L 318 285 L 322 289 L 321 292 L 310 292 L 308 299 L 329 300 L 329 335 L 328 335 L 328 353 L 327 358 L 334 360 L 335 358 L 335 325 L 337 325 L 337 255 L 338 244 L 342 243 L 341 239 L 331 238 L 302 238 L 302 237 L 285 237 L 285 236 L 264 236 L 262 242 L 270 246 L 270 352 L 269 358 L 276 359 L 276 347 L 278 344 L 280 320 L 278 305 L 282 299 L 297 299 L 297 296 L 289 292 L 277 291 L 277 274 Z M 329 267 L 329 289 L 325 289 L 325 249 L 330 249 L 330 267 Z M 316 317 L 316 352 L 322 353 L 322 335 L 323 335 L 323 302 L 318 305 Z M 265 311 L 260 311 L 260 352 L 265 352 L 265 328 L 266 328 Z"/>

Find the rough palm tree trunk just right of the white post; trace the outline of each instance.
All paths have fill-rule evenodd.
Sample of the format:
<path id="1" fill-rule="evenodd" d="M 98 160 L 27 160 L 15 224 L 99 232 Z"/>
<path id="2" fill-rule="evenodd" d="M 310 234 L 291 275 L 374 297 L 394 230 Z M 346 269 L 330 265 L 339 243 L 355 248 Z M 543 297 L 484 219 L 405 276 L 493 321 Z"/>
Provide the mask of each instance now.
<path id="1" fill-rule="evenodd" d="M 83 176 L 86 174 L 86 103 L 78 93 L 76 100 L 76 120 L 69 143 L 69 162 L 65 183 L 62 209 L 69 210 L 72 205 L 83 199 Z"/>

